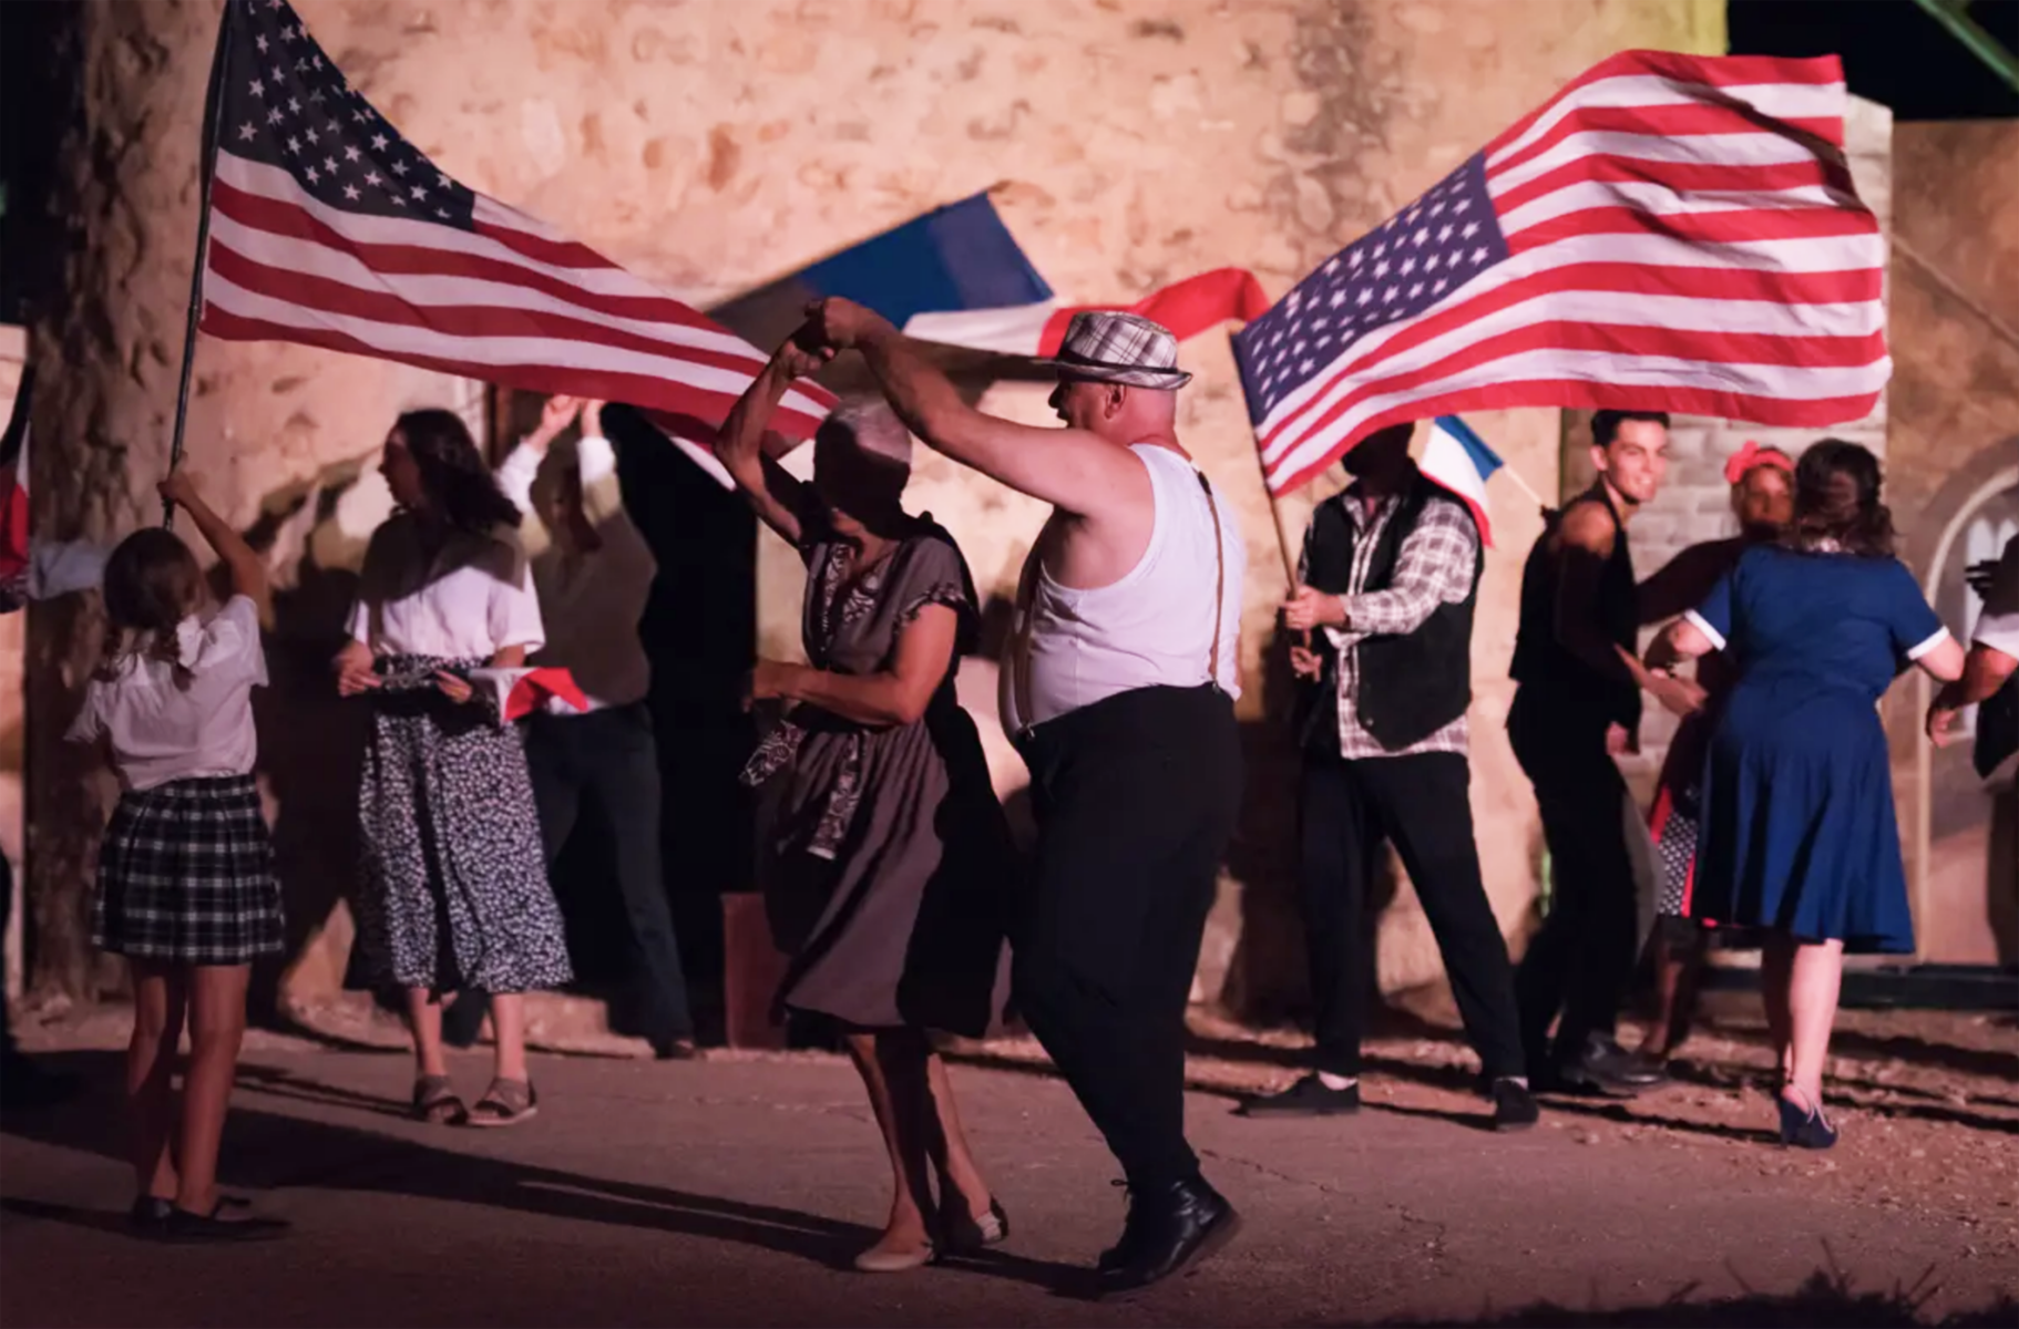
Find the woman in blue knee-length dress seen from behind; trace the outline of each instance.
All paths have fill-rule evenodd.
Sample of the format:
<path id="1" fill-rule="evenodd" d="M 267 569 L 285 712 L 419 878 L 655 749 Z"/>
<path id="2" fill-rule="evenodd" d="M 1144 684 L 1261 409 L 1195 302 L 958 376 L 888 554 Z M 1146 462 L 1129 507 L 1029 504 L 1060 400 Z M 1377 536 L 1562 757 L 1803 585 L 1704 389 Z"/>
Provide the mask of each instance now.
<path id="1" fill-rule="evenodd" d="M 1726 651 L 1738 682 L 1710 738 L 1690 918 L 1767 930 L 1767 1026 L 1781 1141 L 1827 1150 L 1823 1059 L 1843 954 L 1914 950 L 1878 700 L 1908 663 L 1938 680 L 1962 647 L 1894 559 L 1880 464 L 1823 440 L 1795 468 L 1795 520 L 1746 551 L 1652 666 Z"/>

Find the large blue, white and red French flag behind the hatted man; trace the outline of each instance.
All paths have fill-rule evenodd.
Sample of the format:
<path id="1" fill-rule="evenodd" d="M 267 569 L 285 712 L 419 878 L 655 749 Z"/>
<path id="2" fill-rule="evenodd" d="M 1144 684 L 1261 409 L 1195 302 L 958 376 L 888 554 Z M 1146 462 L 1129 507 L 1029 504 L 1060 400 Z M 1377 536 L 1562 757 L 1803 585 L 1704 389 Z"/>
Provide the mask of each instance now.
<path id="1" fill-rule="evenodd" d="M 1127 309 L 1179 341 L 1268 311 L 1254 274 L 1215 268 L 1141 300 L 1060 305 L 989 196 L 975 194 L 709 311 L 739 337 L 775 347 L 826 296 L 868 305 L 907 337 L 1001 355 L 1052 355 L 1082 309 Z"/>

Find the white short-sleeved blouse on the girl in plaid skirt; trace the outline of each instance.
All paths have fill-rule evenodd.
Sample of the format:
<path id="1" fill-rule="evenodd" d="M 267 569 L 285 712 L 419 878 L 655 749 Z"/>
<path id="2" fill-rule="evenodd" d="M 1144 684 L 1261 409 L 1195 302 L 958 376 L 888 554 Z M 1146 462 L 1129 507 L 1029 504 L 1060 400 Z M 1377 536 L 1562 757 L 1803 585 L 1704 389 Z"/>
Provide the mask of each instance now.
<path id="1" fill-rule="evenodd" d="M 184 619 L 176 635 L 186 686 L 170 661 L 131 655 L 117 676 L 91 680 L 71 724 L 73 742 L 107 738 L 123 789 L 248 774 L 258 758 L 252 690 L 267 686 L 258 609 L 234 595 L 208 623 Z"/>

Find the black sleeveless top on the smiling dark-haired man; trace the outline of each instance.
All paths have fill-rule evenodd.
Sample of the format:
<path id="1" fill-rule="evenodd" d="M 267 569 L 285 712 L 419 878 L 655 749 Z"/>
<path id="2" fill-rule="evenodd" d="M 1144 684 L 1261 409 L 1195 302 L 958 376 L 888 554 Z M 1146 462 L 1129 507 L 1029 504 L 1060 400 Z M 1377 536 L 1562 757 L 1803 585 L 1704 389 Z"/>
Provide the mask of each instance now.
<path id="1" fill-rule="evenodd" d="M 1611 498 L 1597 490 L 1599 502 L 1611 512 L 1613 553 L 1599 573 L 1599 631 L 1625 651 L 1639 653 L 1639 601 L 1633 591 L 1633 555 L 1627 553 L 1627 528 Z M 1557 639 L 1557 583 L 1563 581 L 1563 559 L 1551 549 L 1563 512 L 1553 512 L 1528 551 L 1520 573 L 1520 631 L 1514 637 L 1514 663 L 1508 674 L 1524 694 L 1540 698 L 1557 710 L 1603 716 L 1633 728 L 1639 724 L 1639 688 L 1629 678 L 1599 674 Z"/>

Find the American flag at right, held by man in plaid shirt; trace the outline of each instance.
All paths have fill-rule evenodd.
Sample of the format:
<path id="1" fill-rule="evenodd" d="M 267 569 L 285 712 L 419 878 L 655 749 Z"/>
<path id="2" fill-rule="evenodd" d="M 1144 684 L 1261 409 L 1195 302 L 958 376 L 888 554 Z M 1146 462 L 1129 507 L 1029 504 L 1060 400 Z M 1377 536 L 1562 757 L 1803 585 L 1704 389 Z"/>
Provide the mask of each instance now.
<path id="1" fill-rule="evenodd" d="M 1884 242 L 1835 56 L 1627 50 L 1234 337 L 1270 492 L 1409 419 L 1639 407 L 1868 415 Z"/>

